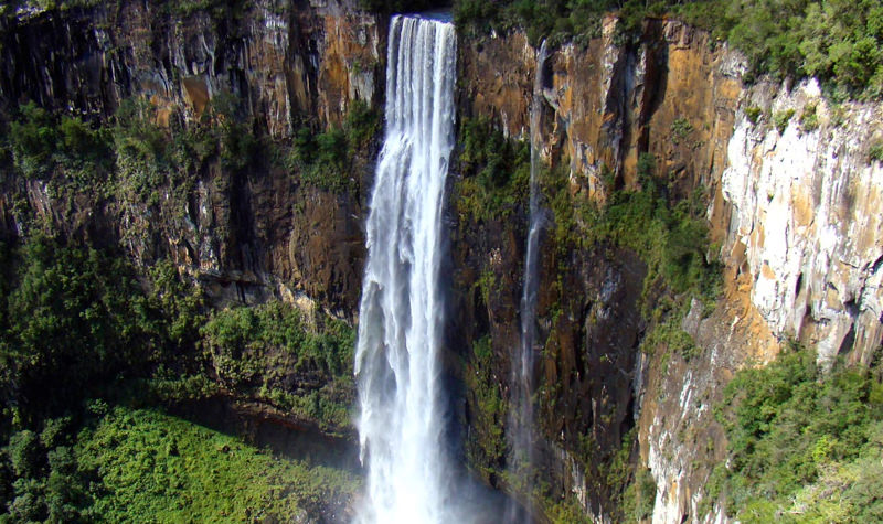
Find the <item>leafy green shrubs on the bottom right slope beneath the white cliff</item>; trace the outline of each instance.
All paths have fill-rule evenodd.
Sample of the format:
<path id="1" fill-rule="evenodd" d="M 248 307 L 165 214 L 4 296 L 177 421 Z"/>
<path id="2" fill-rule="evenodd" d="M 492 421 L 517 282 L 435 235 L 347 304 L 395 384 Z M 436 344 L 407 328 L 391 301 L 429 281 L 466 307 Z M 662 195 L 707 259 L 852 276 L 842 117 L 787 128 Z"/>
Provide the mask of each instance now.
<path id="1" fill-rule="evenodd" d="M 712 494 L 724 498 L 731 515 L 763 520 L 826 482 L 826 471 L 879 457 L 873 438 L 883 418 L 881 392 L 868 370 L 837 365 L 826 376 L 816 355 L 799 345 L 764 368 L 740 371 L 716 407 L 728 468 L 716 470 Z M 828 496 L 868 486 L 847 485 Z"/>

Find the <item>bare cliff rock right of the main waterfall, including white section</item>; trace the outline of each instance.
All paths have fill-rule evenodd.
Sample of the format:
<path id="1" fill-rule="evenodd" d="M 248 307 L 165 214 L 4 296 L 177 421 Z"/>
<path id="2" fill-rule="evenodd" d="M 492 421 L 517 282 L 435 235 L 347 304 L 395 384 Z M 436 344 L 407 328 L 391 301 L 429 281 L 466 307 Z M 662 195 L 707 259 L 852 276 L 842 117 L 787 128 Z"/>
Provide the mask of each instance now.
<path id="1" fill-rule="evenodd" d="M 637 350 L 647 325 L 635 310 L 643 278 L 636 255 L 570 252 L 562 270 L 555 261 L 562 246 L 545 238 L 540 318 L 546 340 L 539 373 L 558 396 L 540 400 L 547 408 L 540 468 L 560 493 L 574 494 L 606 520 L 605 488 L 593 485 L 597 472 L 585 470 L 576 442 L 591 435 L 595 458 L 604 459 L 635 425 L 641 461 L 657 484 L 653 522 L 725 518 L 713 501 L 711 512 L 700 504 L 711 468 L 725 458 L 711 406 L 732 374 L 768 362 L 789 339 L 816 347 L 820 362 L 847 354 L 866 364 L 880 347 L 883 179 L 869 148 L 880 140 L 881 108 L 831 106 L 815 83 L 743 87 L 740 54 L 677 21 L 648 21 L 632 46 L 618 46 L 613 34 L 614 21 L 606 20 L 602 38 L 550 56 L 543 156 L 567 164 L 577 197 L 605 201 L 605 171 L 617 186 L 639 185 L 643 152 L 653 156 L 670 194 L 700 189 L 709 202 L 709 256 L 724 264 L 723 296 L 711 312 L 693 302 L 682 321 L 698 356 L 688 362 L 664 344 L 648 356 Z M 489 38 L 462 47 L 464 113 L 526 137 L 536 65 L 526 39 Z M 781 128 L 788 111 L 792 117 Z M 520 244 L 508 245 L 499 245 L 502 264 L 499 257 L 496 265 L 474 264 L 512 271 L 521 255 L 507 263 L 508 249 Z M 487 253 L 494 260 L 499 252 L 489 246 Z M 514 292 L 504 300 L 518 303 Z M 561 304 L 563 314 L 551 316 L 544 310 L 550 303 Z M 494 376 L 506 392 L 504 355 L 518 340 L 517 313 L 487 309 L 501 363 Z"/>

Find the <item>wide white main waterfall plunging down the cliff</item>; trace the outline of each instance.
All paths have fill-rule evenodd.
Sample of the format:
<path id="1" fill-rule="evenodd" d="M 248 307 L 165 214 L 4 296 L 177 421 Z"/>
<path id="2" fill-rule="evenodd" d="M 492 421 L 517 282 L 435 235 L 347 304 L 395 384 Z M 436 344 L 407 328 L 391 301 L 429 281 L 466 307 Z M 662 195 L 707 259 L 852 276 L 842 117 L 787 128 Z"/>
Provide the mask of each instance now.
<path id="1" fill-rule="evenodd" d="M 454 25 L 390 23 L 386 136 L 371 195 L 355 376 L 361 522 L 450 522 L 443 442 L 442 212 L 454 147 Z"/>

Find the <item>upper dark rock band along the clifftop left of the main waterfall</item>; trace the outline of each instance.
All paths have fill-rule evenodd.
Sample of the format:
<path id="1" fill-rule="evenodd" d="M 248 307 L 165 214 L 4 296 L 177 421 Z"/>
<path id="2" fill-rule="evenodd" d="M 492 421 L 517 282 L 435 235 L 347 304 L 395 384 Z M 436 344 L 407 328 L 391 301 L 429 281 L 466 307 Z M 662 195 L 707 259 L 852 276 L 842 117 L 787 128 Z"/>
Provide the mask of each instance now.
<path id="1" fill-rule="evenodd" d="M 382 32 L 344 0 L 312 7 L 262 0 L 210 11 L 174 2 L 3 19 L 0 97 L 110 116 L 145 96 L 200 115 L 221 92 L 247 100 L 270 136 L 307 119 L 340 124 L 349 103 L 376 103 Z"/>

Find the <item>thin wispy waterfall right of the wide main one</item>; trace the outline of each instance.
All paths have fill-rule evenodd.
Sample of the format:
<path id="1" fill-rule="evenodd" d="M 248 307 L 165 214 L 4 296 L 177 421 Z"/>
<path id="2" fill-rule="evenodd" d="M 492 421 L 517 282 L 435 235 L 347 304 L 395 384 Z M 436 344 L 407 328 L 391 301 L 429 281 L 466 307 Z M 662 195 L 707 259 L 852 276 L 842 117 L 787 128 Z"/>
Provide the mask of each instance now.
<path id="1" fill-rule="evenodd" d="M 513 394 L 509 408 L 509 441 L 512 446 L 513 463 L 509 466 L 510 478 L 522 485 L 514 485 L 517 491 L 528 500 L 531 494 L 533 478 L 533 353 L 536 339 L 536 292 L 540 279 L 540 231 L 543 227 L 543 215 L 540 208 L 540 188 L 538 173 L 540 170 L 540 120 L 543 100 L 543 64 L 546 60 L 545 40 L 540 45 L 536 56 L 533 100 L 531 103 L 530 140 L 531 140 L 531 180 L 530 180 L 530 223 L 528 228 L 528 248 L 524 255 L 524 282 L 521 290 L 521 338 L 519 354 L 512 359 L 511 375 Z M 508 522 L 517 520 L 517 506 L 510 504 Z"/>

